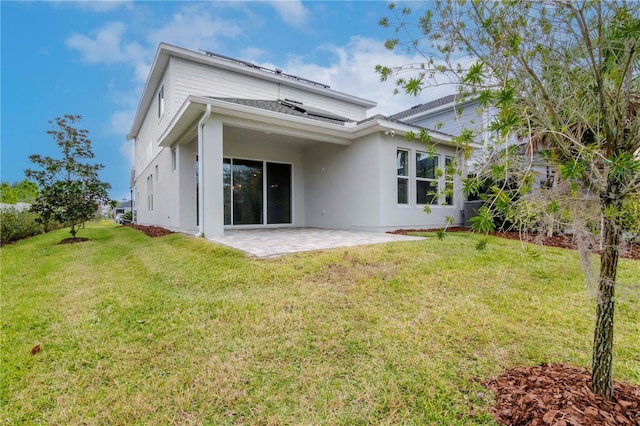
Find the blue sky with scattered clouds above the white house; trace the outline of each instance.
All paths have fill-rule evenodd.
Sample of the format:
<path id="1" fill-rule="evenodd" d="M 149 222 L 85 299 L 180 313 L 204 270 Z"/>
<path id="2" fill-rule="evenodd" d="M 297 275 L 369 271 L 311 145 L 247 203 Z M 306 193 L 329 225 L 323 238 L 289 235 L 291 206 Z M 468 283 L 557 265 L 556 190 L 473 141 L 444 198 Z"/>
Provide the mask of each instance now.
<path id="1" fill-rule="evenodd" d="M 404 4 L 404 3 L 403 3 Z M 393 95 L 376 64 L 419 61 L 387 51 L 386 1 L 2 1 L 2 181 L 19 181 L 31 154 L 57 155 L 49 120 L 80 114 L 111 197 L 129 198 L 125 136 L 158 43 L 206 49 L 378 102 L 390 114 L 451 93 Z M 410 6 L 418 14 L 427 3 Z"/>

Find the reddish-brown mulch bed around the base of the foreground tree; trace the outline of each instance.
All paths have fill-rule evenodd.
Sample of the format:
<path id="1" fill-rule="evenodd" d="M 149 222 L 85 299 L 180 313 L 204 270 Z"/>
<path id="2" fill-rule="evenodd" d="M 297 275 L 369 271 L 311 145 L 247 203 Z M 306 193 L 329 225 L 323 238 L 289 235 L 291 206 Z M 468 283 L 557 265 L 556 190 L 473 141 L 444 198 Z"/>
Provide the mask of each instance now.
<path id="1" fill-rule="evenodd" d="M 582 368 L 518 367 L 483 385 L 495 395 L 489 411 L 502 425 L 640 425 L 640 386 L 614 383 L 614 400 L 607 401 L 591 391 Z"/>

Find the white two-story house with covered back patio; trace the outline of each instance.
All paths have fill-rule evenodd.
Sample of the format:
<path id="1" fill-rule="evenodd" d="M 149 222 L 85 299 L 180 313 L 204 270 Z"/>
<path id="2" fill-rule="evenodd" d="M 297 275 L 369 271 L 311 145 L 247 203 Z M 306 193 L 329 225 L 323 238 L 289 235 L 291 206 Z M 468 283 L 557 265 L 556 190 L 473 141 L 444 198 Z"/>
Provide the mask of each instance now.
<path id="1" fill-rule="evenodd" d="M 456 156 L 436 155 L 410 122 L 367 111 L 370 100 L 247 62 L 161 44 L 128 134 L 137 223 L 222 235 L 225 229 L 369 231 L 461 221 Z M 453 186 L 453 197 L 431 190 Z M 429 204 L 431 214 L 425 214 Z"/>

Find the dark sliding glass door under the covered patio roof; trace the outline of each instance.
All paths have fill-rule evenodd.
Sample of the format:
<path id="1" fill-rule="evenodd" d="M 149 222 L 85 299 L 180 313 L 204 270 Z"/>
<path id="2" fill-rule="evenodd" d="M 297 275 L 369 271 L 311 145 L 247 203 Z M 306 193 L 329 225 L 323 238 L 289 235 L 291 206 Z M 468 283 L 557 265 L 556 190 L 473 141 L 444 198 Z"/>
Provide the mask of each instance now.
<path id="1" fill-rule="evenodd" d="M 291 223 L 291 165 L 255 160 L 223 161 L 224 224 Z"/>

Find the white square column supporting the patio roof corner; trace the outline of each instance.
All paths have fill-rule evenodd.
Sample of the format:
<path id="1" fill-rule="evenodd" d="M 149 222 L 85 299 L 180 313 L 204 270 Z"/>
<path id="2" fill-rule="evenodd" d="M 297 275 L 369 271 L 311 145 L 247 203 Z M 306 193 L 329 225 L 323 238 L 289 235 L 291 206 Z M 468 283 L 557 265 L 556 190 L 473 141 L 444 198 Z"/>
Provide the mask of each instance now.
<path id="1" fill-rule="evenodd" d="M 222 175 L 222 120 L 214 115 L 204 120 L 200 166 L 200 229 L 207 238 L 224 235 L 224 182 Z"/>

